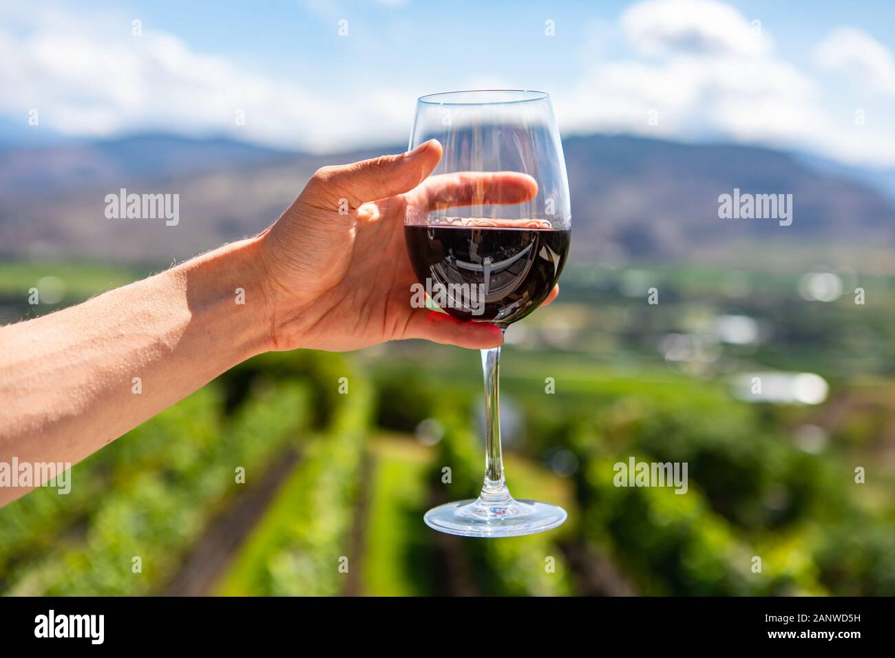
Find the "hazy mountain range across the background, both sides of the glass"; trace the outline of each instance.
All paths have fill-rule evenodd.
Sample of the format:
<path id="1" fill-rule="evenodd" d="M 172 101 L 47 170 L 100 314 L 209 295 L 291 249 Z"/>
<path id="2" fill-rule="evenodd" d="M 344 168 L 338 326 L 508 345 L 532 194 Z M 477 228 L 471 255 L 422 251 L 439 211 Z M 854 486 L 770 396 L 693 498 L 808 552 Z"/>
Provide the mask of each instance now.
<path id="1" fill-rule="evenodd" d="M 889 253 L 895 244 L 891 199 L 797 155 L 608 135 L 570 137 L 564 148 L 578 259 L 727 262 L 753 245 L 761 267 L 765 251 L 788 258 L 812 244 Z M 169 135 L 0 147 L 0 254 L 183 259 L 260 231 L 317 167 L 401 150 L 316 156 Z M 180 222 L 107 219 L 105 196 L 121 187 L 178 193 Z M 792 224 L 719 218 L 719 196 L 735 188 L 792 194 Z"/>

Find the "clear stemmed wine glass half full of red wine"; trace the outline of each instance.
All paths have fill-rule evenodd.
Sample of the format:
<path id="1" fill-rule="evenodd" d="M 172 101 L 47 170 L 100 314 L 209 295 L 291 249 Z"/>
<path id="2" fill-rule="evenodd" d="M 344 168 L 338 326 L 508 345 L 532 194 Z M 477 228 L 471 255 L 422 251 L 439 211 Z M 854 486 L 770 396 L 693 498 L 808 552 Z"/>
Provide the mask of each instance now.
<path id="1" fill-rule="evenodd" d="M 411 197 L 424 202 L 410 202 L 405 211 L 413 270 L 443 311 L 506 331 L 547 298 L 568 254 L 572 216 L 566 162 L 550 97 L 523 90 L 423 96 L 410 148 L 433 138 L 441 142 L 443 156 L 418 188 L 422 193 Z M 427 184 L 436 192 L 427 193 Z M 511 537 L 550 530 L 567 517 L 563 508 L 516 500 L 507 490 L 499 363 L 499 347 L 482 350 L 482 493 L 426 513 L 426 524 L 443 533 Z"/>

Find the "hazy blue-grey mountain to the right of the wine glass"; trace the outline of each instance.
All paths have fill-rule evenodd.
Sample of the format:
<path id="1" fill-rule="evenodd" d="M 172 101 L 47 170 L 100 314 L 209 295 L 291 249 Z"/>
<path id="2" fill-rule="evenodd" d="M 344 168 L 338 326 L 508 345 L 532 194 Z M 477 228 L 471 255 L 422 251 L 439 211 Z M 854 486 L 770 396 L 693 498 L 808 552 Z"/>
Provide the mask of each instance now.
<path id="1" fill-rule="evenodd" d="M 895 243 L 895 204 L 786 152 L 600 135 L 570 138 L 565 150 L 575 241 L 587 250 L 618 243 L 635 257 L 690 259 L 737 243 Z M 792 194 L 792 224 L 719 218 L 719 196 L 735 189 Z"/>

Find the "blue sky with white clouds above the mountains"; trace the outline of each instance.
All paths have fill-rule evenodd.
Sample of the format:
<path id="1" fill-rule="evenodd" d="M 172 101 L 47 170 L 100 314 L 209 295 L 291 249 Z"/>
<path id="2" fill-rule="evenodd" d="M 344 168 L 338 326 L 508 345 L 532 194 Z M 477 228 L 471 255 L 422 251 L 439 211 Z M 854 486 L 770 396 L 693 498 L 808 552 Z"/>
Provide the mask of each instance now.
<path id="1" fill-rule="evenodd" d="M 338 150 L 403 141 L 422 94 L 519 88 L 549 91 L 566 134 L 762 143 L 895 166 L 891 3 L 21 5 L 0 9 L 0 116 L 27 122 L 36 109 L 47 131 Z"/>

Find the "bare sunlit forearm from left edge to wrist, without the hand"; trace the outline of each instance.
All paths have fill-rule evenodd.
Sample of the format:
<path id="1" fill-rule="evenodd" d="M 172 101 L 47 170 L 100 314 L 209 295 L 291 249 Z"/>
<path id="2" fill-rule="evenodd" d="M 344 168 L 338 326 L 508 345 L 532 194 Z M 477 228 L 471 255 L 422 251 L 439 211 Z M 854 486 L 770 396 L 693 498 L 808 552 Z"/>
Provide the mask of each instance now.
<path id="1" fill-rule="evenodd" d="M 226 245 L 0 329 L 0 461 L 73 464 L 265 351 L 259 248 Z M 24 492 L 0 488 L 0 504 Z"/>

